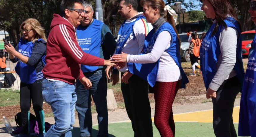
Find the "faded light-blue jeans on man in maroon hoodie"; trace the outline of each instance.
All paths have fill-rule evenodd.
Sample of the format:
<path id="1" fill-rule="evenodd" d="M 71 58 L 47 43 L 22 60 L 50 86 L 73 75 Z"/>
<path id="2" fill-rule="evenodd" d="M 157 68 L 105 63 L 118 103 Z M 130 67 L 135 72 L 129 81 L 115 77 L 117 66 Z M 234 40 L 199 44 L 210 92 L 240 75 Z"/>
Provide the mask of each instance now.
<path id="1" fill-rule="evenodd" d="M 42 94 L 45 102 L 51 105 L 55 119 L 55 124 L 44 137 L 71 137 L 77 101 L 75 85 L 63 81 L 49 81 L 44 78 Z"/>

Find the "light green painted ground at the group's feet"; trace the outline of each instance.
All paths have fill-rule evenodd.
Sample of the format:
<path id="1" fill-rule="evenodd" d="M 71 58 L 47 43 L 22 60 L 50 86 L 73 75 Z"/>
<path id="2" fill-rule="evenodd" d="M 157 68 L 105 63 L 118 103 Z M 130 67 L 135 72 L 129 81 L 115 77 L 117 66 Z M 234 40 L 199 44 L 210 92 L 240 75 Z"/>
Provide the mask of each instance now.
<path id="1" fill-rule="evenodd" d="M 215 137 L 212 123 L 175 123 L 175 137 Z M 235 124 L 238 131 L 238 124 Z M 133 137 L 131 123 L 111 123 L 108 127 L 109 137 Z M 98 134 L 98 125 L 93 126 L 93 136 Z M 160 137 L 157 128 L 153 124 L 154 137 Z M 79 129 L 73 130 L 73 136 L 79 135 Z"/>

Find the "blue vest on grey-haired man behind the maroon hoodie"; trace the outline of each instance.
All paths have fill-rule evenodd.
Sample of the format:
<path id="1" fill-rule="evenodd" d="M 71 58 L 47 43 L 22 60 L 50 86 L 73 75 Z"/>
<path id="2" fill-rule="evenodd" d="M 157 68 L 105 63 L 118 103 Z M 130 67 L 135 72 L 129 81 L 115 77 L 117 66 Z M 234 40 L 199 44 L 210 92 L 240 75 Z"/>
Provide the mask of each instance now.
<path id="1" fill-rule="evenodd" d="M 78 44 L 85 53 L 100 57 L 100 50 L 102 45 L 102 26 L 103 23 L 101 21 L 93 19 L 92 24 L 90 24 L 88 27 L 82 27 L 81 25 L 77 27 Z M 81 70 L 83 72 L 93 72 L 98 68 L 98 66 L 88 66 L 81 64 Z"/>

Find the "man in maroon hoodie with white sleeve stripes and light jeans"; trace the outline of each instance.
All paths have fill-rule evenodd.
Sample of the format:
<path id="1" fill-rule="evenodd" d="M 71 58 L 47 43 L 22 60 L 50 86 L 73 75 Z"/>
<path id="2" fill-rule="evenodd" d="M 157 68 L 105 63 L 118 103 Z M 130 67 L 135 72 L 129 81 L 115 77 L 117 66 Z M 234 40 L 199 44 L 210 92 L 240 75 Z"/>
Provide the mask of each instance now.
<path id="1" fill-rule="evenodd" d="M 60 15 L 54 14 L 47 39 L 46 66 L 43 68 L 42 94 L 51 105 L 55 124 L 44 137 L 71 137 L 75 122 L 75 79 L 91 87 L 89 79 L 80 70 L 80 64 L 114 66 L 114 62 L 84 53 L 77 42 L 76 27 L 85 10 L 81 0 L 62 0 Z"/>

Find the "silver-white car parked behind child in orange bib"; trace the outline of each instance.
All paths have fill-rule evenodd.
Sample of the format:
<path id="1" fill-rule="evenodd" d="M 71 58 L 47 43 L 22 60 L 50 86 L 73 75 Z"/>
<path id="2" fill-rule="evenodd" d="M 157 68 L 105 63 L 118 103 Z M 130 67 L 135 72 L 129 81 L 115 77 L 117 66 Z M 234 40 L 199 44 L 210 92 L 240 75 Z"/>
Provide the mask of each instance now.
<path id="1" fill-rule="evenodd" d="M 197 35 L 199 39 L 201 39 L 203 32 L 197 32 Z M 180 56 L 183 62 L 190 62 L 190 55 L 188 54 L 189 49 L 189 41 L 188 41 L 188 35 L 187 33 L 179 34 L 180 38 Z"/>

